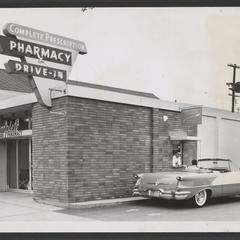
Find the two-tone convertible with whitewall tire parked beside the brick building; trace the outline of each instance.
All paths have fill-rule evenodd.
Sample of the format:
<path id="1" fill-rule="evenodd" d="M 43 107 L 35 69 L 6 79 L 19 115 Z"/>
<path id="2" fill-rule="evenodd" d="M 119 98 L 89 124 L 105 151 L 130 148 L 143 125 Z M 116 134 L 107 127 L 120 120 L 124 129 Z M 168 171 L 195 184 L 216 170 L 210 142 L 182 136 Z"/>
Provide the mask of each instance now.
<path id="1" fill-rule="evenodd" d="M 200 159 L 197 166 L 135 176 L 133 195 L 188 200 L 203 207 L 209 198 L 240 194 L 240 171 L 229 159 Z"/>

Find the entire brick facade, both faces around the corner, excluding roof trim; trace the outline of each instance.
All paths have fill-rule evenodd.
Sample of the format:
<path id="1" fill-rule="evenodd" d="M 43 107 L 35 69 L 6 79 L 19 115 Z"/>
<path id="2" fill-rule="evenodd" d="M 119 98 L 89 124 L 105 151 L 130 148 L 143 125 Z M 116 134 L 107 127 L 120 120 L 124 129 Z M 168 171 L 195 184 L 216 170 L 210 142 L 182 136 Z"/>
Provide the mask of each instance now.
<path id="1" fill-rule="evenodd" d="M 131 196 L 133 174 L 171 167 L 169 130 L 197 134 L 180 112 L 76 97 L 34 104 L 32 118 L 34 196 L 63 203 Z M 184 143 L 184 164 L 196 149 Z"/>

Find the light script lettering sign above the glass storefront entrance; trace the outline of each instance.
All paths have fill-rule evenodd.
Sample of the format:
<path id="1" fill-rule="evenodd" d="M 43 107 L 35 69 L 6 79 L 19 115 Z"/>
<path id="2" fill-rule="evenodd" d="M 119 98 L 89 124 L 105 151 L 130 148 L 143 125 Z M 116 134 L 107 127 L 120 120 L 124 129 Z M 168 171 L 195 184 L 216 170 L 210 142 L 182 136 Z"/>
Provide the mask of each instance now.
<path id="1" fill-rule="evenodd" d="M 13 121 L 5 121 L 3 126 L 0 126 L 0 137 L 9 138 L 22 136 L 22 131 L 19 130 L 19 119 Z"/>

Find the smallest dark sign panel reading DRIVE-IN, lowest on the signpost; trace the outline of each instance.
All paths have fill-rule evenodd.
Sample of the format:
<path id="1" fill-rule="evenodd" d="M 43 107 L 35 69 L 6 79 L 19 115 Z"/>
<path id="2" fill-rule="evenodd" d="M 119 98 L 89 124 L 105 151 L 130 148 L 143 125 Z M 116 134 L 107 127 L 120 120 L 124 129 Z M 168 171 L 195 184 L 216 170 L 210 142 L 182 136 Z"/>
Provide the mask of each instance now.
<path id="1" fill-rule="evenodd" d="M 29 63 L 22 63 L 13 60 L 9 60 L 7 63 L 5 63 L 5 67 L 9 73 L 26 73 L 32 76 L 49 78 L 59 81 L 67 80 L 67 72 L 61 69 L 50 68 Z"/>

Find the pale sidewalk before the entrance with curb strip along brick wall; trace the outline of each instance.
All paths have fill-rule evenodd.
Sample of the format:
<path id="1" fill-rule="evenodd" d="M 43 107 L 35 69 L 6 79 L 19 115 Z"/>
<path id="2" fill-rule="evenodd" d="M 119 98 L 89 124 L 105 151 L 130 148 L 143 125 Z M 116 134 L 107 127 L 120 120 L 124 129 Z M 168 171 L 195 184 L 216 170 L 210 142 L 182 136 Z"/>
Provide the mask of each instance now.
<path id="1" fill-rule="evenodd" d="M 89 201 L 69 204 L 69 208 L 91 208 L 138 201 L 144 198 L 132 197 L 110 200 Z M 0 192 L 0 222 L 7 221 L 96 221 L 86 217 L 61 213 L 64 207 L 40 204 L 33 200 L 32 194 Z"/>

